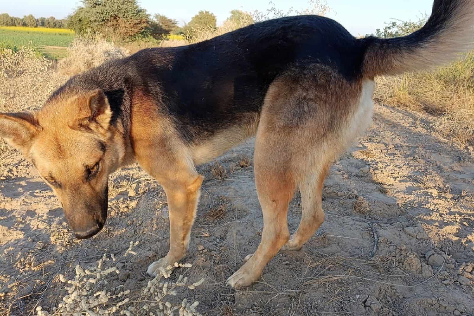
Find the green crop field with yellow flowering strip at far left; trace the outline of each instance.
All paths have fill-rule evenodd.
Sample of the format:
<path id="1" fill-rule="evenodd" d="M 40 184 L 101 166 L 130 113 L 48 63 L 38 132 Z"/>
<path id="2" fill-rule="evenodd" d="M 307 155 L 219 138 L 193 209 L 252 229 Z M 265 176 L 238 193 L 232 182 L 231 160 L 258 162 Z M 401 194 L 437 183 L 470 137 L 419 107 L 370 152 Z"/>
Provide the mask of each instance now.
<path id="1" fill-rule="evenodd" d="M 58 59 L 67 54 L 74 36 L 74 31 L 60 28 L 0 26 L 0 48 L 31 45 L 46 57 Z"/>

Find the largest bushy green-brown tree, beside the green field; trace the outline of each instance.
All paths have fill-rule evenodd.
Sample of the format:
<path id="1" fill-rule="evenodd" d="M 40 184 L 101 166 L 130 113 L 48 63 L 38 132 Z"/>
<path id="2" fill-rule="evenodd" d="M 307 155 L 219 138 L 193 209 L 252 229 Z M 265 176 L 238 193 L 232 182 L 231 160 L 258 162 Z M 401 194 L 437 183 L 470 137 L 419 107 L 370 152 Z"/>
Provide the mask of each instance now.
<path id="1" fill-rule="evenodd" d="M 76 33 L 89 30 L 112 39 L 129 40 L 149 32 L 149 16 L 137 0 L 82 0 L 67 25 Z"/>

